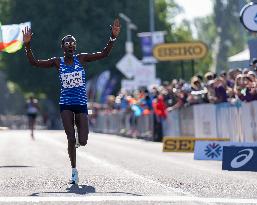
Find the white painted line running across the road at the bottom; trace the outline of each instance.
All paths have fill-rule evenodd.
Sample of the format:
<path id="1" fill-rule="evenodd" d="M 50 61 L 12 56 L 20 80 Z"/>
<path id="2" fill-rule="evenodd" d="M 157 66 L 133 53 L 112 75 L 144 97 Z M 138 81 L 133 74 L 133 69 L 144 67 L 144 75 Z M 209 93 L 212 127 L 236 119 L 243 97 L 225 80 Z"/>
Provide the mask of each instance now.
<path id="1" fill-rule="evenodd" d="M 200 198 L 189 196 L 85 196 L 85 197 L 0 197 L 0 202 L 205 202 L 257 204 L 257 199 Z"/>

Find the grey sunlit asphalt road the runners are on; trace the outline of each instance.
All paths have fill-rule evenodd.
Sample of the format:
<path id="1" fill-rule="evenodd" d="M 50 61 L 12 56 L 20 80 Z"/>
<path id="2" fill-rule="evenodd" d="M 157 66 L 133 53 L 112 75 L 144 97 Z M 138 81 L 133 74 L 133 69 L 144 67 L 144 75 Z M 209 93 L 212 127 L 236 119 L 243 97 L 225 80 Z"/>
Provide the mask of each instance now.
<path id="1" fill-rule="evenodd" d="M 90 133 L 77 149 L 79 185 L 63 131 L 0 131 L 0 204 L 257 204 L 257 173 L 221 170 L 162 144 Z"/>

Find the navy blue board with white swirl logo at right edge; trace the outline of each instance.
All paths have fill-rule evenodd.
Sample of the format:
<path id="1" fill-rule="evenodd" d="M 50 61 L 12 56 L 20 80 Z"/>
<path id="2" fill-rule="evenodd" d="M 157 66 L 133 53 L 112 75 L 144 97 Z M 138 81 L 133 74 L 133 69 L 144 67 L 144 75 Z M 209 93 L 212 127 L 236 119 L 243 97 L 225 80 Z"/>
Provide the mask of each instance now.
<path id="1" fill-rule="evenodd" d="M 222 170 L 257 171 L 257 147 L 223 147 Z"/>

